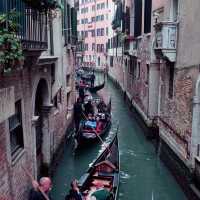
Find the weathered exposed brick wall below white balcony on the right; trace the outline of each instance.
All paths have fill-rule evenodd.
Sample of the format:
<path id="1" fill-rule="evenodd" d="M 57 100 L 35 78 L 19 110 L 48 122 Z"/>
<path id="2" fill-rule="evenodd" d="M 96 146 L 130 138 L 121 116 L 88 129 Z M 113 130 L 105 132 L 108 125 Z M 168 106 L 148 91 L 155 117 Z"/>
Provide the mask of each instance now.
<path id="1" fill-rule="evenodd" d="M 167 131 L 177 143 L 177 148 L 184 149 L 182 156 L 189 159 L 192 133 L 192 97 L 198 75 L 198 68 L 190 67 L 175 70 L 174 96 L 168 97 L 169 70 L 161 67 L 161 118 L 160 130 Z M 166 123 L 166 124 L 165 124 Z M 169 126 L 170 127 L 169 127 Z M 171 130 L 169 130 L 171 129 Z M 181 151 L 180 151 L 181 152 Z"/>

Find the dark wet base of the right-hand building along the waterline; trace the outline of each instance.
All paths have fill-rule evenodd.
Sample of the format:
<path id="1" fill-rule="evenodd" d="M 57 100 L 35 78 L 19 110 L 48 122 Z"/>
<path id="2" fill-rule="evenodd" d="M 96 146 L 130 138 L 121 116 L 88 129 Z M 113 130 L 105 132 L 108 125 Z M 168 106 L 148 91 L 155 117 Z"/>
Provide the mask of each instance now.
<path id="1" fill-rule="evenodd" d="M 131 102 L 130 97 L 122 90 L 119 82 L 113 79 L 113 77 L 111 77 L 110 75 L 108 75 L 108 77 L 121 90 L 122 94 L 125 97 L 125 100 L 128 102 L 130 108 L 132 108 L 131 111 L 137 114 L 139 124 L 142 126 L 142 128 L 145 129 L 147 137 L 151 139 L 155 138 L 155 140 L 152 141 L 155 144 L 156 151 L 159 153 L 160 158 L 163 160 L 166 166 L 170 169 L 177 182 L 181 185 L 187 197 L 190 200 L 200 199 L 200 196 L 197 195 L 198 192 L 194 192 L 194 190 L 191 188 L 191 184 L 193 183 L 193 172 L 189 168 L 188 160 L 184 159 L 183 161 L 183 159 L 181 159 L 181 154 L 178 154 L 178 152 L 175 151 L 174 148 L 172 148 L 172 145 L 166 142 L 169 140 L 166 140 L 166 138 L 163 137 L 166 135 L 166 133 L 163 132 L 163 130 L 165 129 L 163 127 L 157 126 L 149 127 L 141 113 L 138 112 L 138 109 L 134 107 L 134 104 Z M 197 191 L 196 188 L 195 191 Z"/>

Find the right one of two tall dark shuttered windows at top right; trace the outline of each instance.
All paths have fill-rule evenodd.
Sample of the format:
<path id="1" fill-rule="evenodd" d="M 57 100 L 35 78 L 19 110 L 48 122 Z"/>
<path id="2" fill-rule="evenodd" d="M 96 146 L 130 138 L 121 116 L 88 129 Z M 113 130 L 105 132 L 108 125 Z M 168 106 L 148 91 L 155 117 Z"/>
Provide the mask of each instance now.
<path id="1" fill-rule="evenodd" d="M 144 33 L 150 33 L 152 0 L 145 0 L 144 6 Z"/>

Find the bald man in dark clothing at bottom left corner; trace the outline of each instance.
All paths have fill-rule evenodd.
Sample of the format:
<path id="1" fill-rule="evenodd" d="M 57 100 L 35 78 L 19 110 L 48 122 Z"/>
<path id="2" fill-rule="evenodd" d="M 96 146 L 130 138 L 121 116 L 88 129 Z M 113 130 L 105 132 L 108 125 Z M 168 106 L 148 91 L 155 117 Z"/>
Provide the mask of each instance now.
<path id="1" fill-rule="evenodd" d="M 45 195 L 50 199 L 49 192 L 52 187 L 52 182 L 49 177 L 42 177 L 39 184 L 37 181 L 33 181 L 32 185 L 33 188 L 30 191 L 29 200 L 47 200 Z"/>

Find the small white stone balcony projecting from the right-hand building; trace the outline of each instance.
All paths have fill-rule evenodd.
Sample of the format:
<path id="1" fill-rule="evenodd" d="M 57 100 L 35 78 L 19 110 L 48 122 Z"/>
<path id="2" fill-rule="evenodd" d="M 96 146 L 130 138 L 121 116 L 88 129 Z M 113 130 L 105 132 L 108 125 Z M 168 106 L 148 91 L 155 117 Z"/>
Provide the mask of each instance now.
<path id="1" fill-rule="evenodd" d="M 154 51 L 157 57 L 176 61 L 177 22 L 159 22 L 155 27 Z"/>

